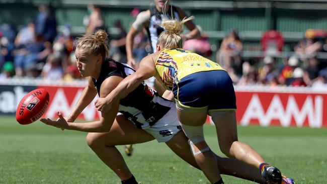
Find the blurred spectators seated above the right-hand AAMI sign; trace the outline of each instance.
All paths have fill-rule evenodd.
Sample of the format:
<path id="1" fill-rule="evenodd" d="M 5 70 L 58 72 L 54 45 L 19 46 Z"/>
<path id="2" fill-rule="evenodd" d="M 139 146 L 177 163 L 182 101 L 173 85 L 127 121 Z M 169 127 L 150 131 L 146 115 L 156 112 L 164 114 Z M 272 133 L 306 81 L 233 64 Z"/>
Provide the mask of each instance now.
<path id="1" fill-rule="evenodd" d="M 231 30 L 220 46 L 216 61 L 229 73 L 237 85 L 282 85 L 327 87 L 327 32 L 308 29 L 304 39 L 291 48 L 286 57 L 283 36 L 278 31 L 264 33 L 262 54 L 242 58 L 242 41 L 236 30 Z"/>

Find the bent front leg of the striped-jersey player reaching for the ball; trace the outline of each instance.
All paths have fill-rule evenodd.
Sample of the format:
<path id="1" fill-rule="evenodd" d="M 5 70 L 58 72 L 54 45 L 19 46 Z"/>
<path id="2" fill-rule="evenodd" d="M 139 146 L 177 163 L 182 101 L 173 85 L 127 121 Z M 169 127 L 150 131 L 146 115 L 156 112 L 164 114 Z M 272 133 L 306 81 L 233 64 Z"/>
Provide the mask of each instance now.
<path id="1" fill-rule="evenodd" d="M 132 173 L 115 145 L 143 143 L 153 139 L 153 136 L 136 128 L 123 116 L 117 116 L 109 132 L 89 133 L 87 136 L 92 150 L 121 180 L 130 178 Z"/>

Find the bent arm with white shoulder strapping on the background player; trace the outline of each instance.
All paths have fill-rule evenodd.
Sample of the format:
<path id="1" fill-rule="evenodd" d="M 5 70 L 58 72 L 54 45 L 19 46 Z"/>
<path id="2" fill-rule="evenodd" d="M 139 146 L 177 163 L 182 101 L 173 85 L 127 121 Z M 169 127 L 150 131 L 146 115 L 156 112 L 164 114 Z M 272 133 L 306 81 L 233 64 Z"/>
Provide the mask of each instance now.
<path id="1" fill-rule="evenodd" d="M 133 57 L 133 44 L 135 36 L 146 26 L 150 18 L 150 11 L 144 11 L 137 15 L 136 20 L 132 24 L 126 36 L 126 56 L 127 64 L 133 66 L 136 64 Z"/>

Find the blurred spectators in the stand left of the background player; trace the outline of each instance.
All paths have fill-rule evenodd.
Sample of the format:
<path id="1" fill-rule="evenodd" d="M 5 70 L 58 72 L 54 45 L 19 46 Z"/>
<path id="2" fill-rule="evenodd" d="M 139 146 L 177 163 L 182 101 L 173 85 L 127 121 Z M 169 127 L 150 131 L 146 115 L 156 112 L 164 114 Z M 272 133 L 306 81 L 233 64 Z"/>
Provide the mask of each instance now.
<path id="1" fill-rule="evenodd" d="M 134 10 L 131 16 L 136 17 Z M 106 30 L 101 9 L 89 5 L 84 17 L 85 34 L 98 29 Z M 76 67 L 74 54 L 75 40 L 70 24 L 57 32 L 53 12 L 47 6 L 39 6 L 34 20 L 19 31 L 13 25 L 0 24 L 0 79 L 42 78 L 49 80 L 81 79 Z M 120 20 L 114 21 L 114 34 L 110 34 L 110 55 L 113 59 L 126 63 L 126 31 Z M 134 41 L 136 59 L 145 57 L 149 45 L 147 36 L 142 32 Z"/>

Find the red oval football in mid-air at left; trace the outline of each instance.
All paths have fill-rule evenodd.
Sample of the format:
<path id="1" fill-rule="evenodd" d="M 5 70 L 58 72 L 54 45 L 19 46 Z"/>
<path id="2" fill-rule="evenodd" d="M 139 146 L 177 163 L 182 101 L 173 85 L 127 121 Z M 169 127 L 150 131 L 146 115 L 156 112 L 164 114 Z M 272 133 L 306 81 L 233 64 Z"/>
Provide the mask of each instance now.
<path id="1" fill-rule="evenodd" d="M 27 125 L 38 120 L 49 105 L 49 93 L 43 88 L 32 90 L 17 107 L 16 120 Z"/>

